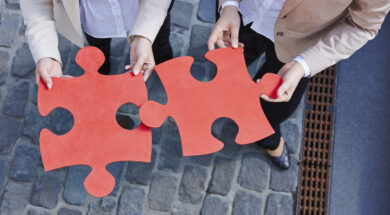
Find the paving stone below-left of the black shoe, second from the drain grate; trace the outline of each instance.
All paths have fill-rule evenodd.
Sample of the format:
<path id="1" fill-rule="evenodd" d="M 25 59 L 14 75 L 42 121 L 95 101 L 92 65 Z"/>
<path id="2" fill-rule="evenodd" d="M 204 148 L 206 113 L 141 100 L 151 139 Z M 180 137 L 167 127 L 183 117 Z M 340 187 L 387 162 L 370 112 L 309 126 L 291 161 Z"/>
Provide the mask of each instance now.
<path id="1" fill-rule="evenodd" d="M 247 189 L 262 192 L 265 190 L 270 174 L 268 158 L 263 154 L 243 155 L 238 183 Z"/>

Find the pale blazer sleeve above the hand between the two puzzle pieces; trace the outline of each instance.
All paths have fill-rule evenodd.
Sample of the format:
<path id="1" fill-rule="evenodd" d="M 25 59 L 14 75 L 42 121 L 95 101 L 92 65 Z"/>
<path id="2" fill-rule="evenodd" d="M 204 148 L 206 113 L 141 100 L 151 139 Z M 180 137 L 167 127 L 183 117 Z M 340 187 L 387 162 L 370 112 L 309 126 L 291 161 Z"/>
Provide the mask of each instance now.
<path id="1" fill-rule="evenodd" d="M 172 0 L 140 0 L 140 8 L 134 26 L 128 36 L 129 42 L 134 35 L 146 37 L 154 42 Z"/>

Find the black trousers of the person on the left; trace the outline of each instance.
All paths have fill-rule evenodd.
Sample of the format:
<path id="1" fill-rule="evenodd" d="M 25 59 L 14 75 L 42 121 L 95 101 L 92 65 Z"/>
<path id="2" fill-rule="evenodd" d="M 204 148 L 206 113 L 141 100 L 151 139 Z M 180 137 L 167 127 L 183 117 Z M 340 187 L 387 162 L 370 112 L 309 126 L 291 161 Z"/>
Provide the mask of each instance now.
<path id="1" fill-rule="evenodd" d="M 164 23 L 161 26 L 160 31 L 158 32 L 156 39 L 153 42 L 152 49 L 153 49 L 153 55 L 156 64 L 162 63 L 166 60 L 173 58 L 172 47 L 171 44 L 169 43 L 169 34 L 171 31 L 169 12 L 172 9 L 173 3 L 174 1 L 171 2 L 171 5 L 168 10 L 168 15 L 165 18 Z M 111 38 L 94 38 L 91 35 L 88 35 L 86 33 L 84 34 L 88 41 L 88 44 L 102 50 L 102 52 L 104 53 L 104 57 L 106 58 L 106 61 L 99 69 L 99 73 L 104 75 L 110 74 Z"/>

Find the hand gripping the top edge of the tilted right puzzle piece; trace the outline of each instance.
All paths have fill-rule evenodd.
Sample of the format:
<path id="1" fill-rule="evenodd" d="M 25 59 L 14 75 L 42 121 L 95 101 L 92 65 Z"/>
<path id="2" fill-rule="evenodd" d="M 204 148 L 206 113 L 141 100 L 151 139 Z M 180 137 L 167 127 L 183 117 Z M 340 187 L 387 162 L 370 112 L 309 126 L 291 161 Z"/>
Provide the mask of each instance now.
<path id="1" fill-rule="evenodd" d="M 215 44 L 217 44 L 219 48 L 244 47 L 244 44 L 238 42 L 240 22 L 241 20 L 237 7 L 226 6 L 223 8 L 221 17 L 214 25 L 209 41 L 207 42 L 209 50 L 214 50 Z"/>

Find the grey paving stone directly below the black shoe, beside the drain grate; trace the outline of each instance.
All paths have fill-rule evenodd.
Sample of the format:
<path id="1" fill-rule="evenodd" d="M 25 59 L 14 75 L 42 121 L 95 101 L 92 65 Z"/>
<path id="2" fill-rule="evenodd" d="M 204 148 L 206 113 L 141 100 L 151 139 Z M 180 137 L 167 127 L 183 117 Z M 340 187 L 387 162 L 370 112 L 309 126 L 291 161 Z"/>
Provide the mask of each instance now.
<path id="1" fill-rule="evenodd" d="M 275 191 L 296 192 L 298 184 L 299 166 L 295 157 L 291 157 L 291 166 L 288 170 L 281 170 L 273 165 L 271 170 L 270 188 Z"/>

